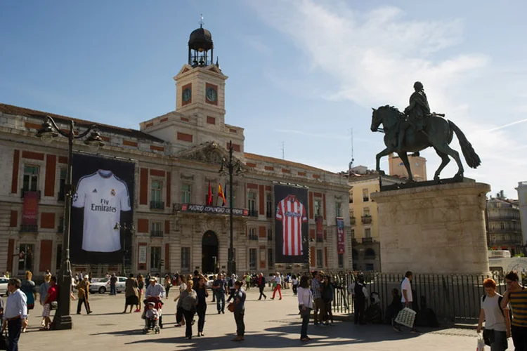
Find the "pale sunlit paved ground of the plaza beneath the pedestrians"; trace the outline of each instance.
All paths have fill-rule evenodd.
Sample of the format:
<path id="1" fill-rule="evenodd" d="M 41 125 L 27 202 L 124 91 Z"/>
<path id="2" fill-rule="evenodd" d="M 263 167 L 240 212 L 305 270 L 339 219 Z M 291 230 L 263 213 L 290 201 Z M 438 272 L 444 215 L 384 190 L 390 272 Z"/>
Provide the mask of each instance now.
<path id="1" fill-rule="evenodd" d="M 41 306 L 30 316 L 30 328 L 20 338 L 20 350 L 474 350 L 476 332 L 468 329 L 423 329 L 420 335 L 408 329 L 396 333 L 390 326 L 356 326 L 351 322 L 336 322 L 335 326 L 315 327 L 310 324 L 309 343 L 299 340 L 300 319 L 297 298 L 285 290 L 282 300 L 257 300 L 257 289 L 247 293 L 245 312 L 246 335 L 241 343 L 231 342 L 235 333 L 233 314 L 217 314 L 216 304 L 208 299 L 204 337 L 197 337 L 197 323 L 192 340 L 184 338 L 185 328 L 174 327 L 176 310 L 172 298 L 164 305 L 165 328 L 160 334 L 143 335 L 141 314 L 122 314 L 124 294 L 91 296 L 93 314 L 75 314 L 77 301 L 72 301 L 74 329 L 70 331 L 39 331 Z M 197 321 L 197 317 L 196 317 Z M 136 347 L 139 347 L 136 348 Z"/>

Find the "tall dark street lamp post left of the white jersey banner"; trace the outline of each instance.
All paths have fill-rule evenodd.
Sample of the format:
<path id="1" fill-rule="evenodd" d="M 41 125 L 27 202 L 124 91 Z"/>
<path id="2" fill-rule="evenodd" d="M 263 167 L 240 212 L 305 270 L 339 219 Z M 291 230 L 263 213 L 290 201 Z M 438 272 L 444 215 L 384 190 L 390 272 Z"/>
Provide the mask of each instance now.
<path id="1" fill-rule="evenodd" d="M 62 131 L 57 124 L 49 116 L 44 119 L 41 128 L 37 131 L 37 137 L 48 142 L 56 138 L 58 135 L 63 135 L 68 140 L 67 151 L 67 175 L 64 185 L 65 191 L 65 205 L 64 205 L 64 233 L 62 244 L 62 258 L 60 265 L 60 273 L 58 274 L 58 307 L 55 317 L 53 318 L 53 329 L 63 330 L 72 329 L 72 317 L 70 316 L 70 293 L 72 289 L 72 267 L 70 265 L 70 220 L 73 197 L 72 186 L 72 156 L 73 156 L 73 140 L 84 138 L 88 133 L 91 133 L 84 143 L 94 147 L 103 146 L 103 140 L 100 138 L 97 126 L 90 126 L 86 131 L 75 135 L 74 122 L 70 121 L 70 130 Z"/>

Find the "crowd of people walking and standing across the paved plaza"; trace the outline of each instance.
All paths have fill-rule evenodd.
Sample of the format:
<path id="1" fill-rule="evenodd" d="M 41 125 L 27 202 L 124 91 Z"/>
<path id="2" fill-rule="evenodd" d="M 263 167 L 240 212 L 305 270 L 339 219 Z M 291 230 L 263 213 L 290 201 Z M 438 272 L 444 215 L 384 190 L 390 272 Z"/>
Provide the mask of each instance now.
<path id="1" fill-rule="evenodd" d="M 7 274 L 4 274 L 6 277 Z M 8 276 L 7 276 L 8 277 Z M 117 282 L 116 274 L 107 274 L 110 282 L 110 295 L 115 295 Z M 6 303 L 0 298 L 0 319 L 2 331 L 8 330 L 9 350 L 18 350 L 18 339 L 28 326 L 29 312 L 33 310 L 36 301 L 43 306 L 41 328 L 48 330 L 51 327 L 51 310 L 57 308 L 58 285 L 56 277 L 50 272 L 44 274 L 44 282 L 37 286 L 32 280 L 32 273 L 25 272 L 24 279 L 9 278 L 8 297 Z M 393 329 L 401 332 L 402 325 L 396 323 L 396 316 L 403 308 L 412 309 L 414 297 L 412 296 L 412 272 L 406 272 L 401 282 L 401 294 L 398 289 L 393 289 L 393 302 L 386 308 L 386 316 L 391 319 Z M 86 314 L 91 314 L 89 304 L 89 286 L 91 274 L 79 274 L 74 280 L 77 290 L 77 314 L 81 313 L 84 305 Z M 259 288 L 259 298 L 267 298 L 264 293 L 266 284 L 272 286 L 273 296 L 278 293 L 282 300 L 282 289 L 292 289 L 293 296 L 297 296 L 299 315 L 301 317 L 300 340 L 308 342 L 308 325 L 313 315 L 313 326 L 333 326 L 332 300 L 334 299 L 335 286 L 330 274 L 324 272 L 311 272 L 285 276 L 276 272 L 268 280 L 260 274 L 245 273 L 241 276 L 232 274 L 230 277 L 221 272 L 214 275 L 212 282 L 197 270 L 193 275 L 167 274 L 164 282 L 160 284 L 159 277 L 147 274 L 135 276 L 129 274 L 124 289 L 124 311 L 143 311 L 141 317 L 145 319 L 145 330 L 151 326 L 163 327 L 162 305 L 163 298 L 168 298 L 172 291 L 176 303 L 176 327 L 185 326 L 185 337 L 192 339 L 193 325 L 197 316 L 197 336 L 204 336 L 205 315 L 207 313 L 207 298 L 213 297 L 218 314 L 225 314 L 227 309 L 233 312 L 236 324 L 236 336 L 233 341 L 245 340 L 245 300 L 246 290 L 252 287 Z M 505 275 L 507 291 L 502 296 L 496 291 L 496 282 L 486 279 L 483 282 L 485 294 L 481 297 L 481 312 L 477 332 L 483 332 L 483 340 L 490 345 L 491 351 L 507 350 L 507 338 L 512 337 L 515 350 L 527 350 L 527 289 L 521 285 L 519 274 L 509 272 Z M 244 289 L 245 286 L 245 289 Z M 365 324 L 364 312 L 370 293 L 361 274 L 356 275 L 347 286 L 353 298 L 354 322 Z M 226 296 L 228 298 L 226 299 Z M 73 293 L 71 298 L 74 299 Z M 230 302 L 232 300 L 232 302 Z M 145 306 L 142 310 L 142 306 Z M 485 326 L 483 328 L 483 322 Z M 415 326 L 410 326 L 412 333 L 419 333 Z"/>

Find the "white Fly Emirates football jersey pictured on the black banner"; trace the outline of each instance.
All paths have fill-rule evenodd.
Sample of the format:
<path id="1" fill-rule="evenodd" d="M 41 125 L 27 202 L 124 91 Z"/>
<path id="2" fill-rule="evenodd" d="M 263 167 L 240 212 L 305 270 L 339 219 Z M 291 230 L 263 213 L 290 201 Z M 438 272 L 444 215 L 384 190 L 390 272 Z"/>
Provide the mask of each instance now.
<path id="1" fill-rule="evenodd" d="M 113 252 L 121 249 L 121 211 L 131 211 L 128 187 L 111 171 L 98 170 L 77 183 L 72 206 L 84 207 L 82 249 Z"/>

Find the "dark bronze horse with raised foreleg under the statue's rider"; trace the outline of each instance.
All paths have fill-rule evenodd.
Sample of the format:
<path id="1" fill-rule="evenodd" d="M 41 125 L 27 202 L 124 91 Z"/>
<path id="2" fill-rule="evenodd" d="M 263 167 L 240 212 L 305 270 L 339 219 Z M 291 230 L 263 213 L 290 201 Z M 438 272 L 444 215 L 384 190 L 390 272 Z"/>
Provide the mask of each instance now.
<path id="1" fill-rule="evenodd" d="M 428 147 L 434 147 L 434 150 L 436 150 L 439 157 L 441 157 L 441 165 L 437 168 L 437 171 L 434 174 L 434 180 L 439 180 L 439 174 L 448 162 L 450 162 L 449 156 L 455 159 L 457 163 L 458 171 L 455 174 L 455 178 L 463 178 L 464 169 L 460 155 L 457 151 L 448 146 L 452 142 L 454 133 L 457 136 L 457 140 L 460 142 L 461 151 L 464 159 L 467 161 L 467 165 L 471 168 L 477 168 L 481 164 L 478 154 L 474 151 L 474 148 L 469 143 L 469 140 L 467 140 L 467 137 L 465 137 L 460 128 L 458 128 L 452 121 L 436 117 L 435 115 L 425 117 L 426 125 L 423 130 L 416 131 L 415 128 L 410 126 L 405 133 L 403 147 L 401 147 L 401 150 L 396 150 L 398 133 L 401 133 L 401 124 L 403 121 L 406 121 L 405 114 L 389 105 L 379 107 L 377 110 L 372 110 L 371 130 L 373 132 L 378 131 L 379 126 L 382 124 L 385 133 L 384 145 L 386 145 L 386 149 L 377 154 L 377 172 L 381 171 L 379 166 L 381 157 L 396 152 L 399 157 L 401 157 L 401 160 L 408 171 L 408 180 L 413 181 L 407 152 L 419 152 Z M 411 124 L 411 122 L 409 123 Z"/>

